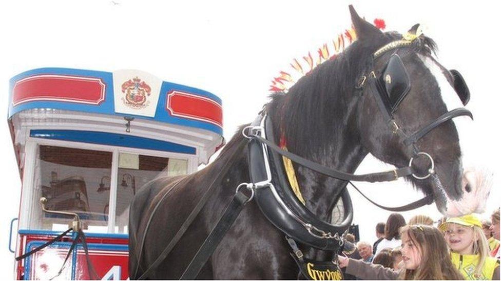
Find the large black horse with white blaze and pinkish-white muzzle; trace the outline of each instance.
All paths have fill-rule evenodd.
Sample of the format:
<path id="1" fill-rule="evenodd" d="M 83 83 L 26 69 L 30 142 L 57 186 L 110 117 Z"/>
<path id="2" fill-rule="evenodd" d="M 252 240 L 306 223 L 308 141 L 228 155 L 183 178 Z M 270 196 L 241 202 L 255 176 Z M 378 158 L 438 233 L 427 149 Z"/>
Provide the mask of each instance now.
<path id="1" fill-rule="evenodd" d="M 444 87 L 454 91 L 455 76 L 435 61 L 432 56 L 435 44 L 425 36 L 418 36 L 409 46 L 374 58 L 378 49 L 401 39 L 402 35 L 382 33 L 353 9 L 351 13 L 358 39 L 337 58 L 320 64 L 301 78 L 287 94 L 274 94 L 266 105 L 266 112 L 274 122 L 273 130 L 279 132 L 274 141 L 278 143 L 278 138 L 283 136 L 290 152 L 345 172 L 353 173 L 368 153 L 397 167 L 407 166 L 410 158 L 406 146 L 388 129 L 370 89 L 359 87 L 360 77 L 371 70 L 379 75 L 390 56 L 398 54 L 412 87 L 393 116 L 403 132 L 415 132 L 452 110 L 442 96 Z M 437 74 L 437 69 L 441 73 Z M 445 77 L 449 84 L 440 84 L 442 78 L 438 79 L 437 75 Z M 461 103 L 457 95 L 455 99 Z M 221 217 L 236 186 L 250 181 L 246 143 L 239 131 L 220 156 L 204 169 L 188 176 L 159 178 L 138 192 L 130 208 L 131 279 L 138 278 L 157 259 L 203 192 L 216 185 L 179 243 L 148 277 L 176 279 L 181 276 Z M 472 197 L 468 194 L 478 194 L 480 187 L 475 176 L 463 179 L 465 171 L 454 122 L 450 120 L 437 126 L 420 138 L 417 146 L 433 156 L 439 181 L 406 179 L 423 193 L 433 196 L 437 208 L 444 214 L 474 211 L 482 199 L 474 198 L 475 202 L 468 200 L 466 203 L 464 199 Z M 417 163 L 418 167 L 420 165 L 426 170 L 428 163 Z M 319 219 L 330 221 L 347 182 L 300 165 L 295 165 L 294 169 L 306 207 Z M 333 252 L 305 245 L 300 248 L 306 257 L 317 261 L 327 261 L 333 256 Z M 251 201 L 197 278 L 296 279 L 299 269 L 290 252 L 283 233 L 264 217 L 256 202 Z"/>

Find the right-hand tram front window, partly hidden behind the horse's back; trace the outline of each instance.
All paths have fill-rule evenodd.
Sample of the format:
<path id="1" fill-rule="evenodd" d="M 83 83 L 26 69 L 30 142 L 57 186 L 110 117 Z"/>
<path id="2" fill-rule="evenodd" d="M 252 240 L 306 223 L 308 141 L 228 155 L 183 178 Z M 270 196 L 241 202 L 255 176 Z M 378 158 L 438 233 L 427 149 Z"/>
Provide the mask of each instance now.
<path id="1" fill-rule="evenodd" d="M 115 233 L 127 233 L 129 204 L 138 190 L 157 177 L 185 175 L 188 161 L 121 153 L 117 181 Z"/>

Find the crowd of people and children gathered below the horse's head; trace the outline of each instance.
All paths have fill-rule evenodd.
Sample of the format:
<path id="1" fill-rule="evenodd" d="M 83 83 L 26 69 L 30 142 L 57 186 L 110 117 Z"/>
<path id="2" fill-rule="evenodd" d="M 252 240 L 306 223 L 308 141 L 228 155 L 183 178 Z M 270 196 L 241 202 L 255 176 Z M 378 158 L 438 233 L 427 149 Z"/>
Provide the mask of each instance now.
<path id="1" fill-rule="evenodd" d="M 376 236 L 338 256 L 346 279 L 499 280 L 499 208 L 490 221 L 469 214 L 406 222 L 392 213 L 376 225 Z"/>

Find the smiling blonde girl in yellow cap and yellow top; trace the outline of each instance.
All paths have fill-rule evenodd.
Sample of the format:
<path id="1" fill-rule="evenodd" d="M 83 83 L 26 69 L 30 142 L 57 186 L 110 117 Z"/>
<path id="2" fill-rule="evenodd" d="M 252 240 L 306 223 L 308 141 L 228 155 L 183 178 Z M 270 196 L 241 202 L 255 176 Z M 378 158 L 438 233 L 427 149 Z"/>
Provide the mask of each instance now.
<path id="1" fill-rule="evenodd" d="M 467 280 L 499 280 L 499 261 L 490 256 L 482 223 L 475 215 L 449 218 L 439 229 L 451 249 L 452 263 Z"/>

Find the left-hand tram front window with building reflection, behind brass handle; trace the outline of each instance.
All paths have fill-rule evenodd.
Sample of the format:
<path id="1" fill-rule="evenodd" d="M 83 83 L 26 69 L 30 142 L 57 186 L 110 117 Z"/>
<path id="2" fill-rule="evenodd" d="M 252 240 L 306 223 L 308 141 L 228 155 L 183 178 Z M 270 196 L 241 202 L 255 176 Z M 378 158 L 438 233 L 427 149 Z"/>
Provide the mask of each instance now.
<path id="1" fill-rule="evenodd" d="M 111 152 L 40 145 L 35 163 L 31 229 L 63 230 L 72 218 L 43 212 L 38 203 L 47 198 L 49 210 L 76 212 L 84 230 L 107 232 Z"/>

